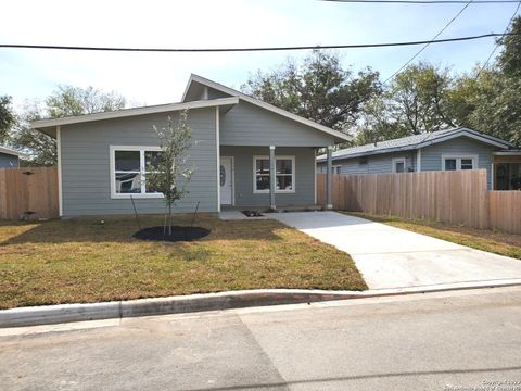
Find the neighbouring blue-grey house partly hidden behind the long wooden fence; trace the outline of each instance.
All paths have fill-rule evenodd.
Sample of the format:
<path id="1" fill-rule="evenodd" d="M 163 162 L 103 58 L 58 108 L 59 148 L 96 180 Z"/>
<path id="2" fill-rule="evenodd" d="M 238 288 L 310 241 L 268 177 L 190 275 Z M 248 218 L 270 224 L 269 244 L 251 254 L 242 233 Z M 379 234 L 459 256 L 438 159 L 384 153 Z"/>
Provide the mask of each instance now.
<path id="1" fill-rule="evenodd" d="M 327 172 L 327 155 L 317 172 Z M 521 151 L 505 140 L 458 127 L 332 152 L 333 174 L 381 174 L 424 171 L 487 171 L 488 188 L 521 188 Z"/>

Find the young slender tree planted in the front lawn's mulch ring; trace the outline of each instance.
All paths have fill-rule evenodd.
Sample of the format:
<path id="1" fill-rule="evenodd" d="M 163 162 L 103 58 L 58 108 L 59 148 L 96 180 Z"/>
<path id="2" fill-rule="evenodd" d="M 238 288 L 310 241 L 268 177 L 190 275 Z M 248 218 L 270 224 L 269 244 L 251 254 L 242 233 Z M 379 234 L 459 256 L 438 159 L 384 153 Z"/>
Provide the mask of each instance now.
<path id="1" fill-rule="evenodd" d="M 161 140 L 162 150 L 155 154 L 155 159 L 148 162 L 147 187 L 162 192 L 168 207 L 168 235 L 171 235 L 171 206 L 187 192 L 194 167 L 188 165 L 188 149 L 191 146 L 192 130 L 188 124 L 188 111 L 179 113 L 177 125 L 168 117 L 166 127 L 161 129 L 154 126 L 154 130 Z M 164 234 L 166 234 L 166 213 Z"/>

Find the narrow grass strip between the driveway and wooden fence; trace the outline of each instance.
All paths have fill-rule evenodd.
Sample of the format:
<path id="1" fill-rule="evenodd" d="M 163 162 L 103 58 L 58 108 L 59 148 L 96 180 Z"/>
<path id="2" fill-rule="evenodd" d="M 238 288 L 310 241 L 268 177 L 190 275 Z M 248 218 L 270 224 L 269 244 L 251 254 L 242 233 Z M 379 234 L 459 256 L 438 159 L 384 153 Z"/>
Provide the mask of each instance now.
<path id="1" fill-rule="evenodd" d="M 473 249 L 521 260 L 521 235 L 448 225 L 428 219 L 405 219 L 395 216 L 379 216 L 351 212 L 348 214 Z"/>

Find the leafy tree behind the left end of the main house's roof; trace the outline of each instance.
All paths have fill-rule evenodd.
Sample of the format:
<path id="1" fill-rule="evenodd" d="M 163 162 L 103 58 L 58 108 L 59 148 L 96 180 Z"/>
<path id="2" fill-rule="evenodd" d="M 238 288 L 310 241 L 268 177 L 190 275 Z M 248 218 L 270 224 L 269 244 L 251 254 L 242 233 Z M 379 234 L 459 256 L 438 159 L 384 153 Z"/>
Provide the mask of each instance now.
<path id="1" fill-rule="evenodd" d="M 30 122 L 114 111 L 124 109 L 125 103 L 125 98 L 115 92 L 104 92 L 92 87 L 82 89 L 59 86 L 43 104 L 38 101 L 25 102 L 20 124 L 13 135 L 13 143 L 30 151 L 30 164 L 53 165 L 58 159 L 55 140 L 41 131 L 31 129 Z"/>

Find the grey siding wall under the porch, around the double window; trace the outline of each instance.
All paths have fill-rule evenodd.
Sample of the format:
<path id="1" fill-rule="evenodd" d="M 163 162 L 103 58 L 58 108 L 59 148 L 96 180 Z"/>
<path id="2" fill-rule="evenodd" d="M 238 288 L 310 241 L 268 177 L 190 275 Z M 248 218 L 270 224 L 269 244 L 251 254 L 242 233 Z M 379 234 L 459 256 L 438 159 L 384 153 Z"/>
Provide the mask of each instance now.
<path id="1" fill-rule="evenodd" d="M 295 192 L 276 193 L 280 206 L 315 204 L 315 150 L 313 148 L 276 148 L 275 154 L 295 156 Z M 236 206 L 269 206 L 269 193 L 253 193 L 253 156 L 268 156 L 269 147 L 221 147 L 221 156 L 233 156 Z"/>

